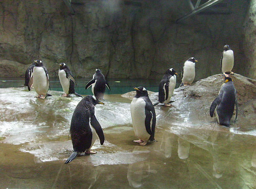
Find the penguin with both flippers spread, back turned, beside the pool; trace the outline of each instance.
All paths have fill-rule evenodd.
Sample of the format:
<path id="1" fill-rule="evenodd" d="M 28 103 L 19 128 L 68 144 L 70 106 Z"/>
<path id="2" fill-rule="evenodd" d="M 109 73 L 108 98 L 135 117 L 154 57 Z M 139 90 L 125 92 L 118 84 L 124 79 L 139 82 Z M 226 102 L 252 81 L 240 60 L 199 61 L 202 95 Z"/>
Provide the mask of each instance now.
<path id="1" fill-rule="evenodd" d="M 88 87 L 91 85 L 93 95 L 99 99 L 103 99 L 106 86 L 108 87 L 108 90 L 110 90 L 107 80 L 105 80 L 104 75 L 100 72 L 99 69 L 96 69 L 95 74 L 93 75 L 93 79 L 86 84 L 85 89 L 88 89 Z"/>

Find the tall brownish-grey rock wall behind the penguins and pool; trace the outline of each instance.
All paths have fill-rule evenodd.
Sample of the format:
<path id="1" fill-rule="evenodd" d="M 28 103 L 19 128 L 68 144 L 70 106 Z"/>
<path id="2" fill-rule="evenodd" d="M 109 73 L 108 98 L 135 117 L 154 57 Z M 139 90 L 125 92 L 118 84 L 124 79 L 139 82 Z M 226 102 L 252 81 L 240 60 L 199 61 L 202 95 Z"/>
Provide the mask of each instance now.
<path id="1" fill-rule="evenodd" d="M 181 76 L 184 61 L 195 57 L 199 80 L 220 73 L 225 44 L 234 50 L 233 71 L 248 75 L 247 0 L 226 0 L 230 14 L 198 14 L 181 23 L 175 20 L 190 11 L 185 0 L 140 1 L 141 7 L 121 0 L 81 2 L 72 4 L 71 15 L 61 0 L 0 0 L 1 76 L 24 76 L 41 59 L 52 77 L 55 62 L 65 62 L 75 77 L 92 77 L 98 68 L 108 78 L 159 79 L 170 67 Z"/>

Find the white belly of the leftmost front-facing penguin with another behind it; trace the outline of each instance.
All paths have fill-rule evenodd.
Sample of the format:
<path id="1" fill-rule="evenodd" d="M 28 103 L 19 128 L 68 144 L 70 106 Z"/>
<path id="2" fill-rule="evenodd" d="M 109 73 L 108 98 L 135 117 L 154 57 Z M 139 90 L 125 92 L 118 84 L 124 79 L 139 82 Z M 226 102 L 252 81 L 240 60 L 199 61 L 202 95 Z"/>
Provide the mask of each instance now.
<path id="1" fill-rule="evenodd" d="M 49 81 L 42 67 L 33 68 L 33 87 L 38 95 L 47 94 Z"/>

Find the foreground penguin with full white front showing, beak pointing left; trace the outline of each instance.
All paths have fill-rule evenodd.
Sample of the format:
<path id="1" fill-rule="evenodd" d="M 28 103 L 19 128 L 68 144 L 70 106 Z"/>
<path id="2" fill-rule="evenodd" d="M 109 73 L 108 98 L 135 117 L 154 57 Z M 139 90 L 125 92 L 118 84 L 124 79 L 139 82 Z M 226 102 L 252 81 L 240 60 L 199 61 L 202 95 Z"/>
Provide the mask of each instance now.
<path id="1" fill-rule="evenodd" d="M 148 92 L 144 87 L 134 87 L 136 95 L 131 102 L 131 116 L 133 130 L 139 140 L 139 145 L 144 146 L 148 141 L 154 141 L 156 127 L 155 108 L 148 97 Z"/>

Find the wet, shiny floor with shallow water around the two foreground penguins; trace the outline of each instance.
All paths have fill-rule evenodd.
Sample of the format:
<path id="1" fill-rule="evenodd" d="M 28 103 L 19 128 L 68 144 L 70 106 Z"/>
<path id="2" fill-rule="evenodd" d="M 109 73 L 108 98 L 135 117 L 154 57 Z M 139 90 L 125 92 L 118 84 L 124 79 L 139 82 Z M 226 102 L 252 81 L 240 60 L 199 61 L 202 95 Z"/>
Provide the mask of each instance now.
<path id="1" fill-rule="evenodd" d="M 81 98 L 51 94 L 40 100 L 33 90 L 0 89 L 0 188 L 256 188 L 255 131 L 200 129 L 200 120 L 157 106 L 157 142 L 138 146 L 131 100 L 120 95 L 96 105 L 105 135 L 97 154 L 65 165 Z"/>

